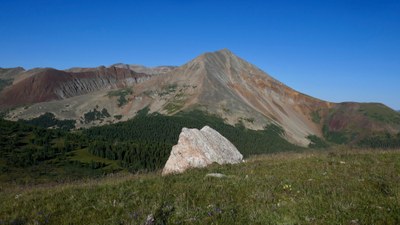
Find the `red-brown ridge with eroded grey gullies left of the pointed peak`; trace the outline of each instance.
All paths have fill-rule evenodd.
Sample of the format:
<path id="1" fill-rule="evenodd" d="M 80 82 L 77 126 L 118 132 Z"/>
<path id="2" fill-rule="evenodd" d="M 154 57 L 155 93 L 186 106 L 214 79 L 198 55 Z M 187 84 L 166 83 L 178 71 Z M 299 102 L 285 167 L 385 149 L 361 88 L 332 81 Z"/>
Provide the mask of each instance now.
<path id="1" fill-rule="evenodd" d="M 147 79 L 129 69 L 99 67 L 85 72 L 42 69 L 0 93 L 0 108 L 45 102 L 93 91 L 121 88 Z"/>

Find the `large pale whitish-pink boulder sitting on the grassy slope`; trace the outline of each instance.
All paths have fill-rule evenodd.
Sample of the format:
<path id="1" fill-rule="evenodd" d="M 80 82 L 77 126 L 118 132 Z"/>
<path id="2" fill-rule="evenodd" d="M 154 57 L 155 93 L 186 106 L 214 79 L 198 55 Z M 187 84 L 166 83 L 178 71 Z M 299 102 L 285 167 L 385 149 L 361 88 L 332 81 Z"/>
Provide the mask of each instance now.
<path id="1" fill-rule="evenodd" d="M 214 129 L 208 126 L 201 130 L 183 128 L 178 144 L 172 147 L 162 175 L 206 167 L 213 162 L 240 163 L 242 159 L 243 156 L 237 148 Z"/>

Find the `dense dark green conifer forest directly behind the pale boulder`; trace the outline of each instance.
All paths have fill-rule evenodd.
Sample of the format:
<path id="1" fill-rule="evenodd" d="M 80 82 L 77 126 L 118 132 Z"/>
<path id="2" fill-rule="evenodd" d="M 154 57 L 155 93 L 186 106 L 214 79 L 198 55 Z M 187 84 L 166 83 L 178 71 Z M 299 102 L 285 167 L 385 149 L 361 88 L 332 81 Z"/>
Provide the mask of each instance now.
<path id="1" fill-rule="evenodd" d="M 135 118 L 126 122 L 93 127 L 84 130 L 83 133 L 91 139 L 102 139 L 107 142 L 164 144 L 170 148 L 177 143 L 183 127 L 201 129 L 205 125 L 220 132 L 245 157 L 252 154 L 300 149 L 286 141 L 282 137 L 284 135 L 282 128 L 276 125 L 271 124 L 264 130 L 255 131 L 246 129 L 242 124 L 236 126 L 225 124 L 220 117 L 197 110 L 165 116 L 158 113 L 147 114 L 147 109 L 144 109 Z"/>

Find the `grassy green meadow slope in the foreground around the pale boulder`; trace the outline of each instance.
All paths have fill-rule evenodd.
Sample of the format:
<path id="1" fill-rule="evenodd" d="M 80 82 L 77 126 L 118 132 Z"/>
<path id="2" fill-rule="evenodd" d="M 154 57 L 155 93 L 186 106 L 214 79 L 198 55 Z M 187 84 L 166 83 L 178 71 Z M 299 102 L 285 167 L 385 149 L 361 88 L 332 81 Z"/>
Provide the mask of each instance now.
<path id="1" fill-rule="evenodd" d="M 153 224 L 399 224 L 399 174 L 399 151 L 342 149 L 167 177 L 0 186 L 0 224 L 144 224 L 149 215 Z"/>

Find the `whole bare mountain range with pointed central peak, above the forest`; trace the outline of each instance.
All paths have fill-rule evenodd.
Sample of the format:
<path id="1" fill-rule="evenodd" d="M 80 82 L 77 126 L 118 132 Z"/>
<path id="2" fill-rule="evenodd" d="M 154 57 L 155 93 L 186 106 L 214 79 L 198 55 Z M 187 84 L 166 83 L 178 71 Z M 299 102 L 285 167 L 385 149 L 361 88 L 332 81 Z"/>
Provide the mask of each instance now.
<path id="1" fill-rule="evenodd" d="M 19 107 L 18 107 L 19 106 Z M 256 66 L 223 49 L 180 66 L 72 68 L 23 71 L 0 93 L 0 107 L 16 107 L 8 119 L 30 119 L 45 112 L 88 127 L 150 113 L 174 115 L 198 109 L 228 124 L 262 130 L 275 124 L 290 142 L 307 146 L 310 136 L 335 143 L 375 133 L 397 133 L 400 115 L 376 103 L 331 103 L 299 93 Z M 95 119 L 86 115 L 104 112 Z"/>

